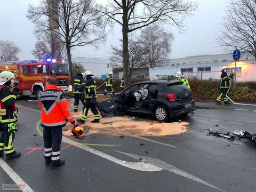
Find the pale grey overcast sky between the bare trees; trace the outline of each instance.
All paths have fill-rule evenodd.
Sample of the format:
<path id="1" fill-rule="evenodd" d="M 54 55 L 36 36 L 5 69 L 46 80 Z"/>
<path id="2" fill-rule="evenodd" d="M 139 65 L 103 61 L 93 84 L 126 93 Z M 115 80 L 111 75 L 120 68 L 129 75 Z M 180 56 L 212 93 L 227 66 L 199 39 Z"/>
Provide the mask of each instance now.
<path id="1" fill-rule="evenodd" d="M 21 60 L 34 59 L 31 55 L 36 42 L 34 25 L 26 18 L 26 12 L 28 4 L 38 4 L 38 2 L 38 0 L 2 0 L 0 4 L 0 39 L 15 42 L 22 50 L 19 55 Z M 175 36 L 171 57 L 223 51 L 215 41 L 215 36 L 220 30 L 228 0 L 196 0 L 196 2 L 199 3 L 199 7 L 195 15 L 186 20 L 185 32 L 179 33 L 174 26 L 169 28 Z M 79 47 L 73 50 L 73 54 L 109 55 L 111 44 L 119 45 L 118 39 L 121 37 L 121 28 L 116 25 L 113 33 L 108 34 L 107 42 L 98 50 L 93 47 Z"/>

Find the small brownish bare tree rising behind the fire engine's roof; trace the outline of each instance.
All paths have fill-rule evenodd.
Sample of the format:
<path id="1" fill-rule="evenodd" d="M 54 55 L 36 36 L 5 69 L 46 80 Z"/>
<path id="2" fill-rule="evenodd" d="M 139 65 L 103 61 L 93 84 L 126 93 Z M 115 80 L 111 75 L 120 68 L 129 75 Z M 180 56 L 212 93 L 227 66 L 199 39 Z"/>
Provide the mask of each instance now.
<path id="1" fill-rule="evenodd" d="M 46 31 L 37 38 L 35 49 L 31 52 L 38 60 L 44 60 L 47 57 L 57 59 L 58 61 L 67 58 L 66 45 L 57 41 L 55 36 Z"/>

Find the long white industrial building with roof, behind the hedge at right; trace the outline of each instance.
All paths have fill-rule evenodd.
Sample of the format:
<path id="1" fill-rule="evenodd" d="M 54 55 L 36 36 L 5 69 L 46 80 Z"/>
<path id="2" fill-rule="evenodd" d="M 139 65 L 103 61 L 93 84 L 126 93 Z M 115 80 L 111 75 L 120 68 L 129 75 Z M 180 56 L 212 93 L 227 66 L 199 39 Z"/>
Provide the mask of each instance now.
<path id="1" fill-rule="evenodd" d="M 255 60 L 247 54 L 243 54 L 237 61 L 237 81 L 256 81 Z M 220 79 L 222 66 L 228 68 L 228 72 L 235 69 L 235 61 L 231 53 L 217 55 L 197 55 L 159 61 L 153 68 L 149 69 L 149 76 L 175 75 L 177 71 L 187 77 L 198 77 L 201 79 Z"/>

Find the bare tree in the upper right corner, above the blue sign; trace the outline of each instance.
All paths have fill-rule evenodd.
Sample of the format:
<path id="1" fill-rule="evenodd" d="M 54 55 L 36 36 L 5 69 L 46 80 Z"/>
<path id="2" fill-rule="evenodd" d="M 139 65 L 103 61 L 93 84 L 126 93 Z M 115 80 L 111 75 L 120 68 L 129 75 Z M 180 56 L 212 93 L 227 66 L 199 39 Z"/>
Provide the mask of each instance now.
<path id="1" fill-rule="evenodd" d="M 253 55 L 256 59 L 256 1 L 230 0 L 227 16 L 217 37 L 227 50 L 236 47 Z"/>

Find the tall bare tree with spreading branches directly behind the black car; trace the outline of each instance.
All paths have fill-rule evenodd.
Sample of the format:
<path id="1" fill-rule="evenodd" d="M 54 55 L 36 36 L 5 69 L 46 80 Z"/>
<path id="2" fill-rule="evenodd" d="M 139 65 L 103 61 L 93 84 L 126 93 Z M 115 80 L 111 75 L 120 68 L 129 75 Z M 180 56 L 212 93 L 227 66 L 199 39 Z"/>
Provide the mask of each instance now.
<path id="1" fill-rule="evenodd" d="M 113 23 L 122 26 L 124 86 L 130 84 L 128 34 L 153 23 L 171 23 L 182 29 L 183 20 L 197 4 L 184 0 L 109 0 L 104 13 Z"/>

